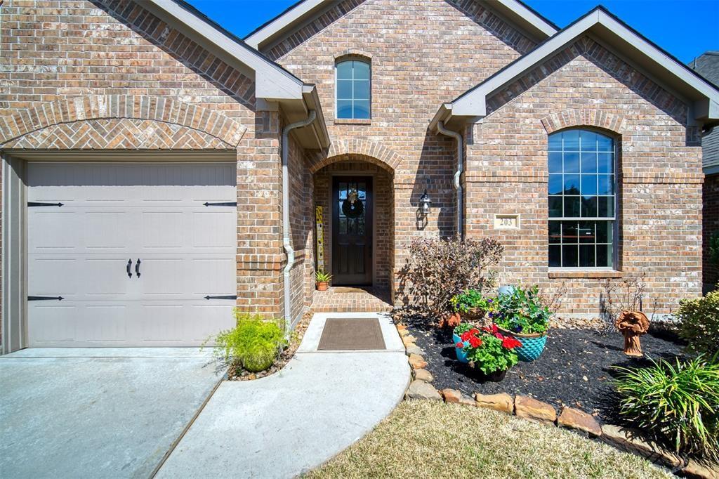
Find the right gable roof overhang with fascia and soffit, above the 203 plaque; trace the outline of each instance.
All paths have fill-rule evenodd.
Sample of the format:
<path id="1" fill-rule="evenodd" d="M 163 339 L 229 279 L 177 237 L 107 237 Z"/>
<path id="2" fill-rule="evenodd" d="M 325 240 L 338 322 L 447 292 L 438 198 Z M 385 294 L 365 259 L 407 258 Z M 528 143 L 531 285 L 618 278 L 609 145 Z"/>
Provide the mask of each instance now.
<path id="1" fill-rule="evenodd" d="M 597 6 L 530 53 L 505 66 L 454 101 L 443 104 L 430 126 L 434 129 L 438 122 L 449 122 L 453 117 L 465 121 L 485 117 L 487 98 L 493 93 L 587 33 L 621 52 L 624 58 L 648 73 L 654 81 L 692 104 L 695 120 L 706 123 L 719 121 L 719 89 L 716 86 L 647 40 L 603 6 Z"/>

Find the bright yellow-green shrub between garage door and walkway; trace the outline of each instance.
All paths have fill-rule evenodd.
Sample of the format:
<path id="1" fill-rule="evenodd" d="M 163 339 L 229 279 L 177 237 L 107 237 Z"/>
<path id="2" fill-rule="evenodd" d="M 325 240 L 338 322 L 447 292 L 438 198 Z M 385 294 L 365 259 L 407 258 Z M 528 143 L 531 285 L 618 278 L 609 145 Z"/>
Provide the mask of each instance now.
<path id="1" fill-rule="evenodd" d="M 286 344 L 280 321 L 235 311 L 237 326 L 215 337 L 214 355 L 234 370 L 259 373 L 273 365 Z"/>

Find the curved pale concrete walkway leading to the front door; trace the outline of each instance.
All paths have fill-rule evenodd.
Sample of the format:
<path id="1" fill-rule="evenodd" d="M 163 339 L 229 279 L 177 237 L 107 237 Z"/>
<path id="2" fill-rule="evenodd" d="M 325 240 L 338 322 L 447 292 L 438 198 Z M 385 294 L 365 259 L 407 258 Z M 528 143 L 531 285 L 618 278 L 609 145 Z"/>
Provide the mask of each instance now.
<path id="1" fill-rule="evenodd" d="M 387 350 L 318 352 L 328 317 L 379 317 Z M 404 347 L 388 315 L 316 314 L 297 354 L 279 373 L 221 383 L 157 477 L 304 473 L 390 414 L 409 378 Z"/>

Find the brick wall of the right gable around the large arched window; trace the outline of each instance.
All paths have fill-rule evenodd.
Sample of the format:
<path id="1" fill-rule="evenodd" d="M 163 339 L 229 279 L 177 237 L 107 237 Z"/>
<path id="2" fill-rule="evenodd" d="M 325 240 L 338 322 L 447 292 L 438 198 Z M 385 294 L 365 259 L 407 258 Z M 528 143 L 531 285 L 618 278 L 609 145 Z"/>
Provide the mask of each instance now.
<path id="1" fill-rule="evenodd" d="M 646 311 L 669 313 L 701 293 L 701 150 L 686 106 L 592 40 L 488 99 L 467 140 L 467 234 L 505 245 L 502 281 L 568 288 L 562 312 L 596 314 L 605 278 L 646 275 Z M 550 273 L 547 137 L 603 129 L 619 145 L 620 273 Z M 494 214 L 521 228 L 494 229 Z M 618 278 L 613 279 L 618 280 Z"/>

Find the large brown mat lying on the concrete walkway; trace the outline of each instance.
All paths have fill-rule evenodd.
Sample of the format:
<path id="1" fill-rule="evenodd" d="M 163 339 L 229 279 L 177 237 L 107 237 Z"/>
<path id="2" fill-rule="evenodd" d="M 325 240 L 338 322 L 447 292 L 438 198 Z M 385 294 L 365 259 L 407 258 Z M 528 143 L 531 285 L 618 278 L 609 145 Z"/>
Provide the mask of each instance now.
<path id="1" fill-rule="evenodd" d="M 377 318 L 329 318 L 318 351 L 384 350 L 385 339 Z"/>

